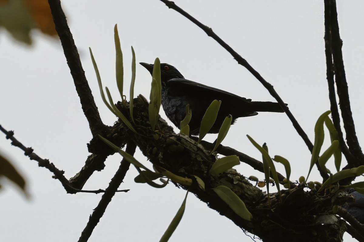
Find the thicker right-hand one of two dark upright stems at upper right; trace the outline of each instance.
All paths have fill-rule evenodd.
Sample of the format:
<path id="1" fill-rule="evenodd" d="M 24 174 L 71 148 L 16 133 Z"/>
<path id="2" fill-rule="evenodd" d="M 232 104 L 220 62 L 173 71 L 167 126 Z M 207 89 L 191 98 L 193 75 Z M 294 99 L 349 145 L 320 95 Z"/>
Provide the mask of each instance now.
<path id="1" fill-rule="evenodd" d="M 328 7 L 327 7 L 328 6 Z M 364 154 L 361 151 L 359 140 L 356 136 L 354 120 L 350 107 L 348 83 L 346 81 L 343 53 L 341 47 L 343 41 L 340 39 L 339 24 L 337 22 L 336 2 L 334 0 L 325 0 L 325 10 L 328 9 L 331 28 L 331 52 L 333 59 L 333 68 L 335 71 L 335 81 L 337 87 L 337 95 L 339 97 L 339 105 L 341 116 L 343 117 L 346 140 L 349 151 L 356 159 L 349 159 L 349 165 L 357 167 L 364 164 Z"/>

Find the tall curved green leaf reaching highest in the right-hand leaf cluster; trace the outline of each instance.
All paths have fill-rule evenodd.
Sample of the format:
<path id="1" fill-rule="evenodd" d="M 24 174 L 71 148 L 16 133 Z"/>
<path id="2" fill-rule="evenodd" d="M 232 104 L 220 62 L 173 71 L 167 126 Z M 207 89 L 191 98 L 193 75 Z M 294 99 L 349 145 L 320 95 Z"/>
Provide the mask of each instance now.
<path id="1" fill-rule="evenodd" d="M 306 177 L 306 181 L 308 179 L 308 176 L 311 173 L 311 170 L 313 168 L 313 165 L 316 163 L 318 156 L 320 155 L 322 144 L 324 143 L 324 121 L 329 115 L 331 111 L 326 111 L 317 119 L 317 122 L 315 124 L 315 141 L 313 144 L 313 150 L 312 150 L 312 156 L 311 156 L 311 163 L 310 163 L 310 169 L 308 171 L 308 175 Z"/>

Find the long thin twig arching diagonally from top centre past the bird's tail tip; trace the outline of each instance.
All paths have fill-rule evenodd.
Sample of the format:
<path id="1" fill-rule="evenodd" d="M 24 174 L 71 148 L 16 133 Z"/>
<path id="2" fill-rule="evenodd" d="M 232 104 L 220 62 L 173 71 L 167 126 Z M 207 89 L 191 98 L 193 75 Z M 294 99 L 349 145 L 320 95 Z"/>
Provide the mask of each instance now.
<path id="1" fill-rule="evenodd" d="M 265 81 L 265 79 L 258 73 L 258 71 L 256 71 L 252 66 L 250 66 L 249 63 L 244 58 L 242 58 L 237 52 L 235 52 L 233 50 L 233 48 L 231 48 L 220 37 L 218 37 L 217 34 L 215 34 L 212 31 L 211 28 L 209 28 L 208 26 L 202 24 L 197 19 L 195 19 L 194 17 L 192 17 L 191 15 L 189 15 L 183 9 L 181 9 L 180 7 L 178 7 L 177 5 L 175 5 L 174 2 L 169 1 L 169 0 L 160 0 L 160 1 L 162 1 L 163 3 L 165 3 L 167 5 L 167 7 L 171 8 L 171 9 L 174 9 L 178 13 L 181 13 L 181 15 L 185 16 L 191 22 L 193 22 L 194 24 L 196 24 L 197 26 L 199 26 L 203 31 L 206 32 L 206 34 L 208 36 L 210 36 L 211 38 L 213 38 L 214 40 L 216 40 L 224 49 L 226 49 L 227 52 L 229 52 L 240 65 L 244 66 L 250 73 L 252 73 L 253 76 L 255 78 L 257 78 L 258 81 L 260 81 L 260 83 L 262 83 L 262 85 L 269 91 L 270 95 L 272 95 L 272 97 L 274 97 L 277 100 L 277 102 L 280 104 L 280 106 L 282 107 L 282 109 L 285 111 L 285 113 L 288 116 L 288 118 L 291 120 L 291 122 L 293 124 L 293 127 L 296 129 L 297 133 L 301 136 L 301 138 L 304 140 L 305 144 L 307 145 L 309 151 L 312 153 L 313 144 L 309 140 L 309 138 L 306 135 L 305 131 L 303 131 L 303 129 L 301 128 L 300 124 L 298 124 L 298 122 L 294 118 L 293 114 L 289 111 L 288 107 L 285 105 L 285 103 L 283 102 L 283 100 L 281 99 L 281 97 L 274 90 L 273 86 L 270 85 L 270 83 L 268 83 L 267 81 Z M 328 174 L 325 173 L 321 169 L 321 167 L 318 165 L 318 162 L 316 162 L 316 165 L 317 165 L 318 171 L 320 171 L 321 177 L 323 177 L 324 180 L 328 179 L 328 177 L 329 177 Z"/>

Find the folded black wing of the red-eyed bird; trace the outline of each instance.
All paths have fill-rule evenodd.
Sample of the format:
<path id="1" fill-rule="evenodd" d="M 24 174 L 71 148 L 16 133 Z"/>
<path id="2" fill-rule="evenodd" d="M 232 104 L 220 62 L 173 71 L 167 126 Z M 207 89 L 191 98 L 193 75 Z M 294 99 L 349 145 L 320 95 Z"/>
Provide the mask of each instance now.
<path id="1" fill-rule="evenodd" d="M 173 88 L 174 90 L 183 91 L 184 89 L 189 89 L 187 91 L 191 91 L 190 87 L 193 87 L 193 90 L 200 92 L 200 93 L 206 93 L 206 91 L 211 91 L 215 94 L 232 96 L 232 97 L 238 98 L 240 100 L 244 100 L 246 102 L 252 101 L 252 99 L 246 99 L 243 97 L 239 97 L 238 95 L 228 93 L 227 91 L 223 91 L 223 90 L 220 90 L 220 89 L 217 89 L 214 87 L 206 86 L 201 83 L 193 82 L 193 81 L 183 79 L 183 78 L 173 78 L 173 79 L 170 79 L 167 83 L 168 83 L 167 84 L 168 87 Z"/>

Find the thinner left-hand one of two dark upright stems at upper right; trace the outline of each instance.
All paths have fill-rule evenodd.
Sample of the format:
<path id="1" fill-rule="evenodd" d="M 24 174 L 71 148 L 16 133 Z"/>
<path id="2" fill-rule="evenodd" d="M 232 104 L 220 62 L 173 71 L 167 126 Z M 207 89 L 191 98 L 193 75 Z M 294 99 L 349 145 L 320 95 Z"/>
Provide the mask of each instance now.
<path id="1" fill-rule="evenodd" d="M 339 135 L 339 143 L 341 151 L 343 152 L 348 163 L 352 163 L 351 160 L 354 159 L 352 154 L 350 153 L 343 136 L 343 131 L 341 131 L 340 126 L 340 115 L 339 110 L 337 108 L 336 102 L 336 94 L 335 94 L 335 82 L 334 82 L 334 67 L 332 62 L 332 46 L 331 46 L 331 11 L 330 11 L 330 0 L 325 0 L 325 56 L 326 56 L 326 79 L 328 83 L 329 89 L 329 99 L 331 104 L 331 115 L 332 121 L 335 126 L 335 129 Z M 349 162 L 349 160 L 351 162 Z"/>

